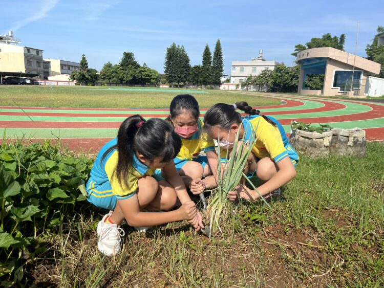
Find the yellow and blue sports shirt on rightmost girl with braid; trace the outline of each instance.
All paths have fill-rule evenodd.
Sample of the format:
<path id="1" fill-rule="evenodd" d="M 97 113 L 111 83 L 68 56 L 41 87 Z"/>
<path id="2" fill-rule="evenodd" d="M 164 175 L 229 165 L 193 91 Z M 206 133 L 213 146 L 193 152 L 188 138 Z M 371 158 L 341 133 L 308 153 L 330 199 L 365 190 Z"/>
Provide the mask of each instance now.
<path id="1" fill-rule="evenodd" d="M 271 119 L 276 124 L 276 127 L 259 115 L 242 117 L 244 126 L 243 141 L 252 142 L 255 132 L 258 137 L 252 148 L 255 157 L 259 159 L 269 157 L 275 163 L 278 163 L 285 157 L 289 157 L 295 165 L 298 161 L 298 155 L 289 144 L 283 126 L 273 117 L 266 117 Z"/>

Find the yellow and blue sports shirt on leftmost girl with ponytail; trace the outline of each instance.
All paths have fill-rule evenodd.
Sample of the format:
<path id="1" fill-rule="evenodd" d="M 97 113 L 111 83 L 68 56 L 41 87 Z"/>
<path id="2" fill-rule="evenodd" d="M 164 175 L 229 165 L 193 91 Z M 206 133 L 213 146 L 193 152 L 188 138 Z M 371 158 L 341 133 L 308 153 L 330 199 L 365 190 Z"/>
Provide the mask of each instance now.
<path id="1" fill-rule="evenodd" d="M 109 141 L 100 149 L 91 170 L 90 180 L 87 183 L 88 194 L 92 192 L 96 192 L 98 194 L 112 192 L 118 200 L 123 200 L 133 196 L 136 192 L 139 178 L 144 175 L 153 175 L 154 170 L 141 163 L 139 159 L 137 159 L 136 155 L 133 154 L 132 166 L 130 166 L 129 172 L 126 175 L 128 186 L 125 186 L 124 184 L 120 185 L 117 180 L 117 176 L 112 176 L 117 166 L 119 155 L 117 149 L 110 151 L 104 159 L 102 159 L 104 152 L 115 145 L 117 145 L 117 138 Z M 106 182 L 110 183 L 110 190 L 98 191 L 97 187 L 105 184 Z M 105 185 L 103 187 L 105 187 Z"/>

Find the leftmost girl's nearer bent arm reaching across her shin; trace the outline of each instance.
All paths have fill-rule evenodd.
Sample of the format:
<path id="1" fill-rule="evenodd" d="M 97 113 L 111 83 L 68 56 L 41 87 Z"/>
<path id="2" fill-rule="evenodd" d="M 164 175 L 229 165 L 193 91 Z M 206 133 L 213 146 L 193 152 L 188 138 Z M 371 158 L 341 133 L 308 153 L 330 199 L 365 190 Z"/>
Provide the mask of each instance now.
<path id="1" fill-rule="evenodd" d="M 122 212 L 130 226 L 157 226 L 174 221 L 195 219 L 197 209 L 193 201 L 186 201 L 174 211 L 169 212 L 141 212 L 137 195 L 124 200 L 118 200 L 118 210 Z M 116 209 L 115 209 L 116 211 Z"/>

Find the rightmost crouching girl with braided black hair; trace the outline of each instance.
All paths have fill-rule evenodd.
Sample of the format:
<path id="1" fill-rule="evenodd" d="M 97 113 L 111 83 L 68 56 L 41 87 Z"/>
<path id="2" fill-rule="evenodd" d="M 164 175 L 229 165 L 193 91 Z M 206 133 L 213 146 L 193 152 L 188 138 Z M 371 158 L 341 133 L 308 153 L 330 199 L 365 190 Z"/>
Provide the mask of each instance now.
<path id="1" fill-rule="evenodd" d="M 236 112 L 237 108 L 249 116 L 242 118 Z M 219 139 L 222 148 L 233 146 L 239 129 L 239 139 L 243 138 L 243 141 L 252 142 L 258 137 L 248 159 L 247 172 L 253 174 L 255 171 L 258 178 L 265 181 L 258 187 L 261 195 L 279 189 L 294 178 L 298 156 L 288 143 L 283 126 L 276 119 L 262 115 L 259 110 L 252 109 L 246 102 L 237 102 L 233 105 L 218 103 L 209 108 L 205 114 L 204 130 L 210 137 Z M 236 191 L 228 193 L 228 198 L 234 201 L 238 196 L 255 200 L 259 194 L 245 185 L 238 185 Z"/>

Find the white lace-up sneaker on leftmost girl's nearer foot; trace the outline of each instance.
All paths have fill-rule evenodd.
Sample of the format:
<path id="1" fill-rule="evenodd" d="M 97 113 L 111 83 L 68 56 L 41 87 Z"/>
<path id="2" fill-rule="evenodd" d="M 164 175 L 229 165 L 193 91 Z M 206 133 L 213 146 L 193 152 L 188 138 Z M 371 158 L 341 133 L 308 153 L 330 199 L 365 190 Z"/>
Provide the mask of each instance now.
<path id="1" fill-rule="evenodd" d="M 112 215 L 112 212 L 105 214 L 97 224 L 97 249 L 106 256 L 117 255 L 121 249 L 121 237 L 125 235 L 123 229 L 116 224 L 105 223 L 105 218 Z"/>

